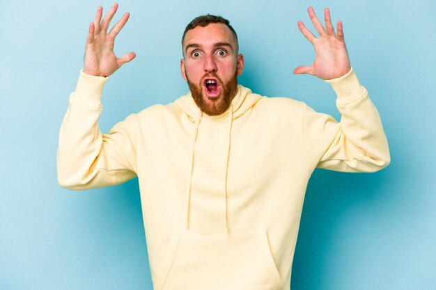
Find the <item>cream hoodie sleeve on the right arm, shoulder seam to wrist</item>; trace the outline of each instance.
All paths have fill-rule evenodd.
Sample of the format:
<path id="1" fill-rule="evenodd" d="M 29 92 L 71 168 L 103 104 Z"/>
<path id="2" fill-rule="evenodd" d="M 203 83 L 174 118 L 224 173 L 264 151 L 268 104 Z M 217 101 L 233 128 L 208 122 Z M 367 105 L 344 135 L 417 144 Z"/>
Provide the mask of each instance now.
<path id="1" fill-rule="evenodd" d="M 343 172 L 375 172 L 390 162 L 380 115 L 355 73 L 328 80 L 336 92 L 341 122 L 304 104 L 309 166 Z"/>

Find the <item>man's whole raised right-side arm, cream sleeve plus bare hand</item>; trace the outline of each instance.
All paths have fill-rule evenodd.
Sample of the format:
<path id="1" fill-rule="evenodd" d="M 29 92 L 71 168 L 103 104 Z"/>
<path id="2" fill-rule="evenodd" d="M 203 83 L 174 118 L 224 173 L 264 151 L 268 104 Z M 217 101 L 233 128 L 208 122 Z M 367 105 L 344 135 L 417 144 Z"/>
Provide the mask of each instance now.
<path id="1" fill-rule="evenodd" d="M 338 22 L 335 35 L 327 8 L 324 15 L 326 29 L 309 7 L 309 16 L 320 38 L 298 22 L 300 31 L 316 50 L 316 59 L 313 65 L 297 67 L 294 73 L 312 74 L 330 83 L 342 117 L 341 122 L 336 122 L 331 116 L 305 106 L 304 136 L 309 166 L 345 172 L 380 170 L 390 162 L 380 115 L 350 67 L 342 22 Z"/>

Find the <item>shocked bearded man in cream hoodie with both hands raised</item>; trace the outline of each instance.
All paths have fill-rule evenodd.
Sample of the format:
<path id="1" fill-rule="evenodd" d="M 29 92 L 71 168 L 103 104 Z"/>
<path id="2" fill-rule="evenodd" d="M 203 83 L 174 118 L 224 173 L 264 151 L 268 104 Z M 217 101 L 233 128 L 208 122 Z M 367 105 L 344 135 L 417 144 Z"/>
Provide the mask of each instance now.
<path id="1" fill-rule="evenodd" d="M 306 185 L 316 167 L 373 172 L 389 163 L 380 117 L 337 34 L 312 8 L 313 74 L 331 83 L 341 122 L 302 102 L 261 97 L 238 85 L 244 57 L 228 21 L 205 15 L 182 38 L 190 92 L 98 129 L 107 76 L 132 61 L 114 55 L 126 13 L 107 33 L 114 5 L 89 26 L 84 70 L 61 126 L 59 183 L 84 189 L 138 176 L 155 289 L 288 289 Z"/>

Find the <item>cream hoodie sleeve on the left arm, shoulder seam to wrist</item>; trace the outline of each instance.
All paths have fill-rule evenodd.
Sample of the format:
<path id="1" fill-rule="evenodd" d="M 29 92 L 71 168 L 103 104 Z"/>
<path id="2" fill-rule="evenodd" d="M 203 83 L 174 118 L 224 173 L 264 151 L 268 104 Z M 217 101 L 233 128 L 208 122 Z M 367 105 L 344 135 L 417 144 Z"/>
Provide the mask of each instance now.
<path id="1" fill-rule="evenodd" d="M 126 182 L 136 176 L 134 115 L 102 134 L 98 118 L 107 78 L 81 72 L 59 132 L 58 182 L 81 190 Z"/>

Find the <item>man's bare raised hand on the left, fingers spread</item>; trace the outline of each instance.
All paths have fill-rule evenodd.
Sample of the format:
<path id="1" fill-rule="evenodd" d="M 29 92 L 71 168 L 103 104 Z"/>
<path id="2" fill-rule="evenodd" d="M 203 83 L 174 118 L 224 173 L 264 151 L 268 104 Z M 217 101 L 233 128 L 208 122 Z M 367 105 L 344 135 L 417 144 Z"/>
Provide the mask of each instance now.
<path id="1" fill-rule="evenodd" d="M 114 27 L 107 33 L 112 17 L 114 17 L 118 4 L 111 7 L 109 13 L 102 19 L 103 8 L 97 9 L 94 22 L 89 24 L 88 38 L 86 39 L 84 73 L 93 76 L 110 76 L 124 63 L 132 61 L 136 56 L 134 52 L 118 58 L 114 53 L 116 35 L 123 29 L 130 14 L 125 13 Z"/>

